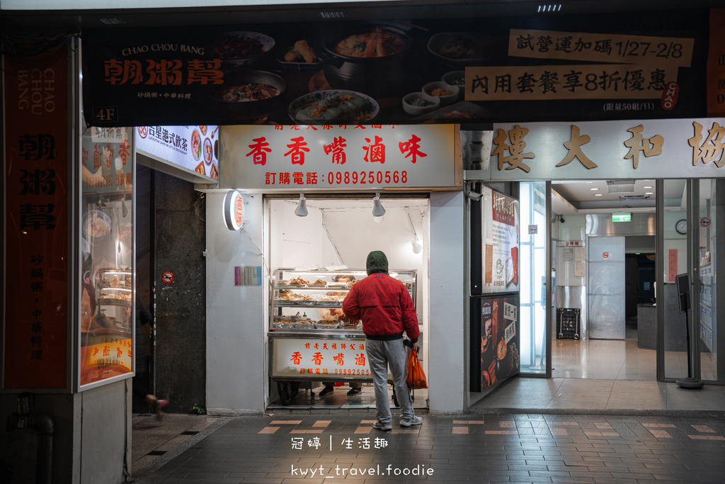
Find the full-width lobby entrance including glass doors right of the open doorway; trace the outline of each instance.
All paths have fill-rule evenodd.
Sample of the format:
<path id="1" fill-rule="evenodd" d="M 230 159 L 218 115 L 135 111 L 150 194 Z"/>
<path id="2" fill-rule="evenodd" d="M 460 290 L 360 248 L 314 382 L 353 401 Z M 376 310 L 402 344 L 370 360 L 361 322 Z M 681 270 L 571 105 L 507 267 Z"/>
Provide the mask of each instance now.
<path id="1" fill-rule="evenodd" d="M 721 179 L 552 181 L 552 377 L 725 380 L 724 199 Z M 679 274 L 691 281 L 689 365 Z"/>

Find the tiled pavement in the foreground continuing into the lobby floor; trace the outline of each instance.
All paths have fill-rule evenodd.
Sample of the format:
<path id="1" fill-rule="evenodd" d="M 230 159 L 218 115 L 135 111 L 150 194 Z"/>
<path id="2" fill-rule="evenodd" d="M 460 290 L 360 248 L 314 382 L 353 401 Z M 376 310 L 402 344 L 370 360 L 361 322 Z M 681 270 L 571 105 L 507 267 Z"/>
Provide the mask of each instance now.
<path id="1" fill-rule="evenodd" d="M 133 477 L 146 484 L 725 482 L 725 387 L 656 382 L 655 352 L 633 340 L 559 340 L 552 348 L 555 377 L 510 379 L 458 416 L 428 414 L 428 392 L 418 390 L 423 425 L 398 427 L 394 419 L 391 432 L 372 427 L 370 385 L 352 397 L 347 385 L 325 397 L 323 387 L 300 390 L 263 417 L 177 422 L 168 415 L 159 424 L 136 416 Z"/>

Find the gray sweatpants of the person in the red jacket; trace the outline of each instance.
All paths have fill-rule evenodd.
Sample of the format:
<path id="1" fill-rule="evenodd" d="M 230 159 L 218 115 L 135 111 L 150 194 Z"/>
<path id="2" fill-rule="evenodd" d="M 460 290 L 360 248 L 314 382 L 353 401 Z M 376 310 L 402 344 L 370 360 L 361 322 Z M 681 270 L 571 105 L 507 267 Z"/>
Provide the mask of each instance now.
<path id="1" fill-rule="evenodd" d="M 388 365 L 395 385 L 395 395 L 400 405 L 400 418 L 412 419 L 415 417 L 413 403 L 407 390 L 407 364 L 405 360 L 405 346 L 403 340 L 365 340 L 368 345 L 368 364 L 373 374 L 375 384 L 375 406 L 378 409 L 377 418 L 383 424 L 391 420 L 390 402 L 388 401 Z"/>

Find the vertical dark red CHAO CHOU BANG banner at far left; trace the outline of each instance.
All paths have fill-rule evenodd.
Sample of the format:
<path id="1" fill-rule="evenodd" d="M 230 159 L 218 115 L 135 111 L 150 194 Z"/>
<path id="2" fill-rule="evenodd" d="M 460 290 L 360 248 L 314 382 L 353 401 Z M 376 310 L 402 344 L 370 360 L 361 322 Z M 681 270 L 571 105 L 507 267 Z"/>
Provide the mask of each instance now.
<path id="1" fill-rule="evenodd" d="M 68 49 L 4 57 L 5 388 L 67 387 Z"/>

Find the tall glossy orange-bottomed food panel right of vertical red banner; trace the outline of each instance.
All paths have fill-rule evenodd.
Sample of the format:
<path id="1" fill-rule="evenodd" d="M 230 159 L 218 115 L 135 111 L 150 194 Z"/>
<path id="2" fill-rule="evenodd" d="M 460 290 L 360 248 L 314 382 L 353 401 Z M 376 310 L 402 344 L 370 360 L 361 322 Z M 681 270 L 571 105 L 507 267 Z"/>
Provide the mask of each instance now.
<path id="1" fill-rule="evenodd" d="M 133 371 L 133 128 L 88 128 L 81 168 L 80 387 Z"/>

